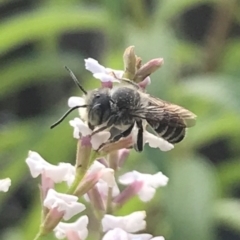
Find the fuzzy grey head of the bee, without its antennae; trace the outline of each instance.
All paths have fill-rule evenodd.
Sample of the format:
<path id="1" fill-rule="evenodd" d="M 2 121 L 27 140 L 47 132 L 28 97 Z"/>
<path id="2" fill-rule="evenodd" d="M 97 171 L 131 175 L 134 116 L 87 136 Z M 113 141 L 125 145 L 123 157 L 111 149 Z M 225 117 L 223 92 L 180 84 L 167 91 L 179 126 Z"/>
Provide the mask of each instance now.
<path id="1" fill-rule="evenodd" d="M 88 121 L 92 126 L 106 122 L 111 116 L 111 97 L 109 89 L 95 89 L 86 96 Z"/>

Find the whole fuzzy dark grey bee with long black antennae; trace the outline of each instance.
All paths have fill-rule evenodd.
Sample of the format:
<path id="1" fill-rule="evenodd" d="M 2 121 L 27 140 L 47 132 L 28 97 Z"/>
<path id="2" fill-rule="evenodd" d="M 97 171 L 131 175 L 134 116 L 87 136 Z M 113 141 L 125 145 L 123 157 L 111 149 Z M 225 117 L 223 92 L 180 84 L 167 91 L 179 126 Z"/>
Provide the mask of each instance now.
<path id="1" fill-rule="evenodd" d="M 112 89 L 99 88 L 85 91 L 73 72 L 66 67 L 72 79 L 84 93 L 85 105 L 70 108 L 51 128 L 61 123 L 75 109 L 86 108 L 87 123 L 92 135 L 117 129 L 107 143 L 116 142 L 131 134 L 137 127 L 136 151 L 143 150 L 143 132 L 149 126 L 155 134 L 169 143 L 176 144 L 183 140 L 186 128 L 196 122 L 196 115 L 178 105 L 150 96 L 134 82 L 120 79 L 124 84 Z"/>

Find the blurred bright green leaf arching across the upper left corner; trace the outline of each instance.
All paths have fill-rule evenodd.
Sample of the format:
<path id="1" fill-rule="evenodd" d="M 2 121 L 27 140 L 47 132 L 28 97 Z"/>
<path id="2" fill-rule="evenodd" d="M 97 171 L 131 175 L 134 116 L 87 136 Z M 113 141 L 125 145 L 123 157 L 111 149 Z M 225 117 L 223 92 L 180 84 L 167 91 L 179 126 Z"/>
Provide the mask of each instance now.
<path id="1" fill-rule="evenodd" d="M 108 18 L 101 9 L 66 8 L 57 5 L 54 8 L 39 8 L 0 24 L 0 53 L 4 54 L 29 40 L 39 41 L 50 36 L 59 36 L 66 31 L 101 30 L 107 33 L 108 24 Z"/>

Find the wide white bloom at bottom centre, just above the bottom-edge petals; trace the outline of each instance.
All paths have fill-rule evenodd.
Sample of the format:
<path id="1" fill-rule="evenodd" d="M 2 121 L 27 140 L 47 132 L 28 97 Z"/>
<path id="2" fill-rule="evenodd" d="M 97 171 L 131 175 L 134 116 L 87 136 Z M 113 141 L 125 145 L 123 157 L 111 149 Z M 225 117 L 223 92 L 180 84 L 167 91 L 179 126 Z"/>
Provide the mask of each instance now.
<path id="1" fill-rule="evenodd" d="M 138 232 L 146 227 L 145 217 L 145 211 L 134 212 L 124 217 L 106 214 L 102 219 L 103 232 L 114 228 L 121 228 L 128 233 Z"/>

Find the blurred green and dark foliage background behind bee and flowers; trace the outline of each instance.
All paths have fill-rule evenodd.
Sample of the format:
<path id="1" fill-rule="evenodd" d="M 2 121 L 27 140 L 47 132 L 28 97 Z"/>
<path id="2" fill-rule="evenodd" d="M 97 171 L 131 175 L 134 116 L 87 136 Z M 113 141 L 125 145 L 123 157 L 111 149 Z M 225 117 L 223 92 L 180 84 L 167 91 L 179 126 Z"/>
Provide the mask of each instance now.
<path id="1" fill-rule="evenodd" d="M 146 232 L 166 240 L 240 239 L 237 0 L 0 0 L 0 179 L 12 179 L 0 193 L 0 239 L 33 239 L 38 230 L 39 179 L 25 164 L 28 150 L 74 163 L 68 121 L 77 113 L 49 129 L 81 94 L 64 66 L 85 89 L 99 87 L 84 58 L 122 69 L 130 45 L 143 62 L 164 58 L 148 92 L 198 119 L 174 150 L 131 153 L 123 172 L 162 171 L 170 181 L 150 203 L 133 199 L 118 214 L 146 209 Z"/>

